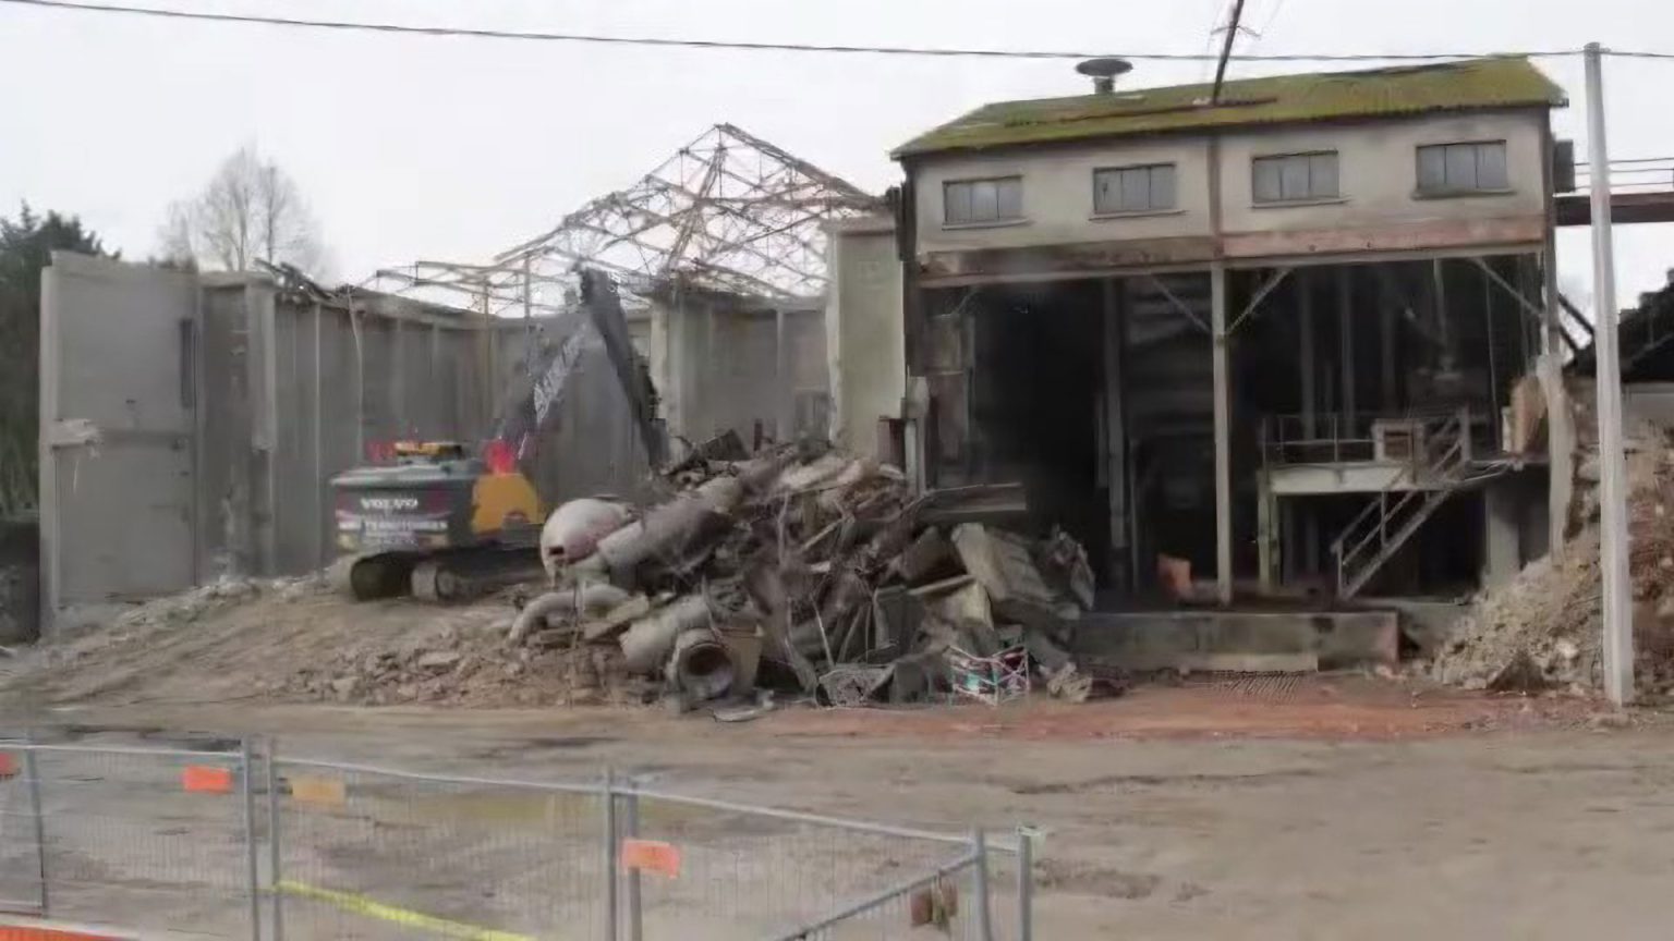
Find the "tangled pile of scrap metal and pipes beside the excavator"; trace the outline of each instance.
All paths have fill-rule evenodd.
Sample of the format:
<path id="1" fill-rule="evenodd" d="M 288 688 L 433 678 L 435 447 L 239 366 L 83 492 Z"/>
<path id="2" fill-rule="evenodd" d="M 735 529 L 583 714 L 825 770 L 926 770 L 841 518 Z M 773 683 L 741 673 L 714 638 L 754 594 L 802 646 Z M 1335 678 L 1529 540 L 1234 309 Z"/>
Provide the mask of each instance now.
<path id="1" fill-rule="evenodd" d="M 601 673 L 656 681 L 680 708 L 783 688 L 827 705 L 1120 685 L 1076 668 L 1093 604 L 1086 553 L 1026 539 L 1018 486 L 931 491 L 824 445 L 747 455 L 737 435 L 665 472 L 639 507 L 581 499 L 541 539 L 554 589 L 522 608 L 512 648 L 594 651 Z"/>

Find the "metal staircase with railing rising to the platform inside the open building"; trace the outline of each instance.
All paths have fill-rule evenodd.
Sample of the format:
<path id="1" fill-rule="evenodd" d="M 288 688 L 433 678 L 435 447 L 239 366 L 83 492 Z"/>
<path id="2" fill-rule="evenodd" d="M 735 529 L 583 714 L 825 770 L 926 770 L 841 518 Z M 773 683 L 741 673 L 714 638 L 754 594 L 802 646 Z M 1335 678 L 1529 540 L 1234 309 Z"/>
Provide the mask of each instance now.
<path id="1" fill-rule="evenodd" d="M 1465 482 L 1470 417 L 1438 419 L 1415 442 L 1411 487 L 1381 491 L 1331 542 L 1338 559 L 1338 598 L 1353 598 Z"/>

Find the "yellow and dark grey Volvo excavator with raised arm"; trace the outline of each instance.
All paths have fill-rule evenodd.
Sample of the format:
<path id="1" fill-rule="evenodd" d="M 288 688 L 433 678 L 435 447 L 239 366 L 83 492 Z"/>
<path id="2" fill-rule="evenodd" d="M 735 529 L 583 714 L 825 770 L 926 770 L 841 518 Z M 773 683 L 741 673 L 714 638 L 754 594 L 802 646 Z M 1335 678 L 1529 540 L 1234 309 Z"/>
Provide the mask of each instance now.
<path id="1" fill-rule="evenodd" d="M 604 342 L 656 467 L 666 449 L 656 388 L 633 350 L 608 275 L 581 271 L 581 306 Z M 350 594 L 464 601 L 542 574 L 537 544 L 546 507 L 522 465 L 589 343 L 583 323 L 531 352 L 480 454 L 460 442 L 397 442 L 385 460 L 331 479 L 338 581 Z"/>

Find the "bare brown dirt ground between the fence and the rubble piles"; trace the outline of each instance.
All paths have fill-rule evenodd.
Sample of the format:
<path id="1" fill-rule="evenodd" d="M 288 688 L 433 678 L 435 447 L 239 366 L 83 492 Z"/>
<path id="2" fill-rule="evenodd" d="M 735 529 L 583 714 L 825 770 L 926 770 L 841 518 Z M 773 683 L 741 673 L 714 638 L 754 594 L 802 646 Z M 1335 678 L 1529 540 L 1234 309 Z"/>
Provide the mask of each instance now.
<path id="1" fill-rule="evenodd" d="M 1664 938 L 1674 725 L 1361 676 L 914 712 L 126 705 L 8 725 L 276 733 L 479 775 L 604 765 L 686 794 L 1046 832 L 1038 938 Z"/>

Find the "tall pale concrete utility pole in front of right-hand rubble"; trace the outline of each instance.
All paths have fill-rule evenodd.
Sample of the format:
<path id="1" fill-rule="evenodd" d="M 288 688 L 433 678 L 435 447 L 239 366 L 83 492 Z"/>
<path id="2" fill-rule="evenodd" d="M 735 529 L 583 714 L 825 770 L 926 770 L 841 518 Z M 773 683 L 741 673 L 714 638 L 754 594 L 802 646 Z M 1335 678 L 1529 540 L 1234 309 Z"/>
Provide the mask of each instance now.
<path id="1" fill-rule="evenodd" d="M 1634 611 L 1627 584 L 1627 462 L 1622 457 L 1622 363 L 1615 345 L 1615 244 L 1610 221 L 1610 154 L 1604 132 L 1604 50 L 1587 44 L 1587 162 L 1592 171 L 1594 352 L 1599 383 L 1600 593 L 1604 693 L 1634 700 Z"/>

